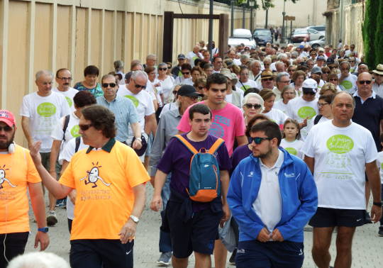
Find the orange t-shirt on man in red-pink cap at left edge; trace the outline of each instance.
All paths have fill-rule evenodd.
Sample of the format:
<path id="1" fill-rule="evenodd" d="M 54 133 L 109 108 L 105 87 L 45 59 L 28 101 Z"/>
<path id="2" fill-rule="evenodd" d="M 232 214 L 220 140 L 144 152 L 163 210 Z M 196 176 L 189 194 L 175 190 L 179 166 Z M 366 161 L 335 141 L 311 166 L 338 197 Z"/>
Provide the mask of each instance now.
<path id="1" fill-rule="evenodd" d="M 29 231 L 28 182 L 41 182 L 29 151 L 0 154 L 0 233 Z"/>

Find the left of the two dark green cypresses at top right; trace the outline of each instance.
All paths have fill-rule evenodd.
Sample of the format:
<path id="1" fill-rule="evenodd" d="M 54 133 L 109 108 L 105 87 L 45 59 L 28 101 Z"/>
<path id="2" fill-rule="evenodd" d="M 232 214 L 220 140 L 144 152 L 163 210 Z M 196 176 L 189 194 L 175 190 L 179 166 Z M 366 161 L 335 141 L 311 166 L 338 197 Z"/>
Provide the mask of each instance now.
<path id="1" fill-rule="evenodd" d="M 365 22 L 363 23 L 362 27 L 362 37 L 363 37 L 363 46 L 365 49 L 365 62 L 367 62 L 367 65 L 369 67 L 375 67 L 375 37 L 377 36 L 377 16 L 378 11 L 381 10 L 380 6 L 383 6 L 382 4 L 379 4 L 379 2 L 382 2 L 381 0 L 367 0 L 366 1 L 366 11 L 365 11 Z M 380 13 L 383 13 L 382 11 Z M 382 17 L 381 17 L 382 18 Z M 380 35 L 382 35 L 382 32 L 380 32 Z M 380 43 L 382 44 L 382 43 Z M 379 48 L 379 46 L 377 47 Z"/>

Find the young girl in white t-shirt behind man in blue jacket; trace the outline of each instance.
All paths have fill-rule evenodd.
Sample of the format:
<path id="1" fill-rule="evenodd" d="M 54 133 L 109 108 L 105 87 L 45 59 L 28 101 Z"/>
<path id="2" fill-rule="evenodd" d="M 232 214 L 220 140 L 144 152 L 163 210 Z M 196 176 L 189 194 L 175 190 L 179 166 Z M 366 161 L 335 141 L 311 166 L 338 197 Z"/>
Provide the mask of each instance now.
<path id="1" fill-rule="evenodd" d="M 283 147 L 284 150 L 287 150 L 290 154 L 303 159 L 304 155 L 301 152 L 301 147 L 304 142 L 299 140 L 300 138 L 301 133 L 299 132 L 299 123 L 290 118 L 284 121 L 281 147 Z"/>

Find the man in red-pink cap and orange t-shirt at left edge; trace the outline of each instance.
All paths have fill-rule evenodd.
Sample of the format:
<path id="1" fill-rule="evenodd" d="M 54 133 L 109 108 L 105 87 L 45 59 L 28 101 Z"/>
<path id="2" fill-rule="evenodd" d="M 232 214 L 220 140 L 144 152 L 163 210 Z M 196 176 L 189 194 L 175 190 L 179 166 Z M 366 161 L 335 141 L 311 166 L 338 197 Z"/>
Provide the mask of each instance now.
<path id="1" fill-rule="evenodd" d="M 10 111 L 0 110 L 0 268 L 23 254 L 28 240 L 28 195 L 38 222 L 35 247 L 49 245 L 41 179 L 28 150 L 13 143 L 16 125 Z"/>

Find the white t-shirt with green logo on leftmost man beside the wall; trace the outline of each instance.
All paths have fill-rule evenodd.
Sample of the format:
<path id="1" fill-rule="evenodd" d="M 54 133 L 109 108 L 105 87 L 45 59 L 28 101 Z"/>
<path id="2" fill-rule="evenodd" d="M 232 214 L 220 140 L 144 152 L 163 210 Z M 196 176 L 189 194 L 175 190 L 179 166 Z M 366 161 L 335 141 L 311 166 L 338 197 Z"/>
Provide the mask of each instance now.
<path id="1" fill-rule="evenodd" d="M 40 152 L 50 152 L 52 130 L 67 114 L 70 114 L 70 107 L 62 94 L 52 91 L 49 96 L 39 96 L 37 92 L 23 96 L 20 115 L 29 118 L 33 140 L 41 140 Z"/>

